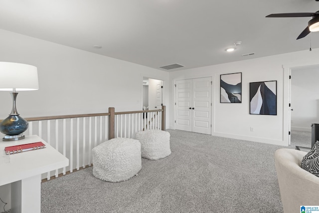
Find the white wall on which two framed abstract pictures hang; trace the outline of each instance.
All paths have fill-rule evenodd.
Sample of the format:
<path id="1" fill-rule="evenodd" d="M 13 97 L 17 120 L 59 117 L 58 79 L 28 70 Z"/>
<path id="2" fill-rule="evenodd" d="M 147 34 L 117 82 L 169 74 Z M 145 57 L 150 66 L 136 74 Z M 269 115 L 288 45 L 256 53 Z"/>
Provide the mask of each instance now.
<path id="1" fill-rule="evenodd" d="M 289 68 L 319 64 L 318 57 L 319 49 L 313 49 L 170 72 L 170 100 L 174 102 L 175 80 L 212 76 L 212 135 L 288 146 Z M 242 72 L 242 103 L 220 103 L 220 74 L 235 72 Z M 277 80 L 277 116 L 250 115 L 249 83 L 271 80 Z M 169 111 L 173 115 L 173 105 Z M 169 123 L 171 128 L 173 121 Z"/>

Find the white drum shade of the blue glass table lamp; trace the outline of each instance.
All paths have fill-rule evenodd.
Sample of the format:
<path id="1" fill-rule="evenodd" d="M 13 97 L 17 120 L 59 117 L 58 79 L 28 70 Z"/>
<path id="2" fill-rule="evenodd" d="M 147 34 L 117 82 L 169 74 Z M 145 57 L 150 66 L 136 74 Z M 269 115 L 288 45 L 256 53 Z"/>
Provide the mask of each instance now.
<path id="1" fill-rule="evenodd" d="M 0 91 L 37 90 L 38 71 L 35 66 L 0 62 Z"/>

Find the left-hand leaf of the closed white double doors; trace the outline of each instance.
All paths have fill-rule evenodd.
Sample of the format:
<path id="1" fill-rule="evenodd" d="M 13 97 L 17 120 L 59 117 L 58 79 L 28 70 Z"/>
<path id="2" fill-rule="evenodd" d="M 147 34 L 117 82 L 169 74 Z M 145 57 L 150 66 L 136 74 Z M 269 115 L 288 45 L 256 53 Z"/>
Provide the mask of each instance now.
<path id="1" fill-rule="evenodd" d="M 192 131 L 192 80 L 176 81 L 175 129 Z"/>

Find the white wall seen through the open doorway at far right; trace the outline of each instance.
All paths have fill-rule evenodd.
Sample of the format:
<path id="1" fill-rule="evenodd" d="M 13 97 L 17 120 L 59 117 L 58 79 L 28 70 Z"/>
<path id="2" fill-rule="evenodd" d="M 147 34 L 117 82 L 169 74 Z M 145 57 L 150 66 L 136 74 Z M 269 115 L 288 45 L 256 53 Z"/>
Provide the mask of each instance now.
<path id="1" fill-rule="evenodd" d="M 311 132 L 319 123 L 319 66 L 296 68 L 291 79 L 291 129 Z"/>

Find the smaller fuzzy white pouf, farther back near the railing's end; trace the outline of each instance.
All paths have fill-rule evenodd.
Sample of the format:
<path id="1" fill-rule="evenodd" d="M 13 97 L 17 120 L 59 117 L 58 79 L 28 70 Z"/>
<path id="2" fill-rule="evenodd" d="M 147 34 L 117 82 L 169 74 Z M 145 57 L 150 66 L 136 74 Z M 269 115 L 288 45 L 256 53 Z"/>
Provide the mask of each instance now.
<path id="1" fill-rule="evenodd" d="M 136 134 L 141 143 L 142 157 L 158 160 L 170 155 L 169 132 L 162 130 L 146 130 Z"/>

